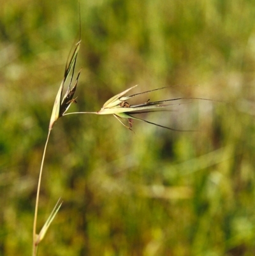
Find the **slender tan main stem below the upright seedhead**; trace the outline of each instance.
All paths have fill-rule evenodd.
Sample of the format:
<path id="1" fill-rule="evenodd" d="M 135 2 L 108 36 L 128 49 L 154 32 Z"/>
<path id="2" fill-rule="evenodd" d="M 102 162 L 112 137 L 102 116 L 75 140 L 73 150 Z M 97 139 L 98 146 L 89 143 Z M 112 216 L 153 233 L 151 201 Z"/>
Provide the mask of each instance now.
<path id="1" fill-rule="evenodd" d="M 41 159 L 41 168 L 40 168 L 40 174 L 39 174 L 39 179 L 38 179 L 38 186 L 37 186 L 37 193 L 36 193 L 36 206 L 35 206 L 35 209 L 34 209 L 33 253 L 32 253 L 33 256 L 36 255 L 36 249 L 37 249 L 37 246 L 38 246 L 38 244 L 36 243 L 36 240 L 37 240 L 36 223 L 37 223 L 38 204 L 39 204 L 39 195 L 40 195 L 40 187 L 41 187 L 41 175 L 43 173 L 43 163 L 44 163 L 44 159 L 45 159 L 46 149 L 47 149 L 47 145 L 48 145 L 48 139 L 50 137 L 51 130 L 52 129 L 48 130 L 48 136 L 47 136 L 47 140 L 45 142 L 45 147 L 44 147 L 44 150 L 43 150 L 43 158 Z"/>

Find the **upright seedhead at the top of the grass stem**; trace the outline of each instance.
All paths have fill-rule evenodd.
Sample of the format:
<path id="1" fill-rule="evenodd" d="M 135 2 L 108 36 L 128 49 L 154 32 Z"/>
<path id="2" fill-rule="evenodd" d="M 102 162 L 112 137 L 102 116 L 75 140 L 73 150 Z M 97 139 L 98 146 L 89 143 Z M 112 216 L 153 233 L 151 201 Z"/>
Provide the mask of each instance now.
<path id="1" fill-rule="evenodd" d="M 76 102 L 76 100 L 73 99 L 73 96 L 77 89 L 78 79 L 79 79 L 81 70 L 78 72 L 77 79 L 75 80 L 75 84 L 73 87 L 71 87 L 71 84 L 73 81 L 73 75 L 75 73 L 75 64 L 77 61 L 77 55 L 78 55 L 79 49 L 80 49 L 80 41 L 78 41 L 78 43 L 76 44 L 75 50 L 73 51 L 70 61 L 66 63 L 66 68 L 64 70 L 64 78 L 59 87 L 59 91 L 57 92 L 57 96 L 55 98 L 54 106 L 52 109 L 52 116 L 50 117 L 50 124 L 48 127 L 50 130 L 52 129 L 55 121 L 57 121 L 59 117 L 63 116 L 64 113 L 69 109 L 71 103 Z M 66 94 L 64 94 L 64 97 L 62 97 L 64 84 L 66 82 L 66 79 L 69 76 L 69 73 L 71 73 L 71 79 L 68 85 L 68 89 L 66 90 Z"/>

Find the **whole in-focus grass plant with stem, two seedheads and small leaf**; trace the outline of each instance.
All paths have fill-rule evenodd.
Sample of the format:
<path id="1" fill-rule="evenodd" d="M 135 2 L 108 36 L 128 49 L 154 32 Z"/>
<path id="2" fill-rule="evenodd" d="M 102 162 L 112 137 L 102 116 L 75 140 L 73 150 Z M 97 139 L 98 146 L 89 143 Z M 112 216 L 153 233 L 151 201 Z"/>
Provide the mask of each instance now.
<path id="1" fill-rule="evenodd" d="M 36 206 L 35 206 L 35 213 L 34 213 L 34 225 L 33 225 L 33 256 L 36 255 L 38 245 L 40 242 L 43 240 L 45 237 L 45 234 L 50 227 L 50 224 L 55 218 L 55 215 L 57 214 L 57 211 L 59 211 L 62 202 L 60 202 L 61 199 L 57 201 L 57 204 L 55 205 L 54 209 L 52 210 L 52 213 L 47 219 L 47 222 L 43 225 L 42 229 L 40 230 L 39 234 L 36 233 L 36 224 L 37 224 L 37 216 L 38 216 L 38 206 L 39 206 L 39 199 L 40 199 L 40 188 L 41 188 L 41 176 L 43 174 L 43 165 L 45 162 L 45 154 L 47 151 L 47 145 L 48 145 L 48 140 L 50 138 L 50 133 L 52 131 L 52 128 L 55 124 L 55 122 L 62 116 L 70 115 L 70 114 L 98 114 L 98 115 L 106 115 L 106 114 L 113 114 L 120 123 L 122 123 L 126 128 L 129 130 L 132 130 L 132 125 L 133 125 L 133 119 L 138 120 L 138 121 L 144 121 L 145 123 L 149 124 L 154 124 L 156 126 L 159 126 L 161 128 L 166 128 L 168 130 L 172 130 L 175 132 L 181 132 L 180 130 L 176 130 L 173 128 L 169 128 L 160 124 L 152 123 L 150 121 L 146 121 L 145 119 L 140 119 L 134 116 L 131 116 L 131 114 L 143 114 L 143 113 L 149 113 L 149 112 L 156 112 L 156 111 L 162 111 L 162 109 L 166 107 L 171 107 L 173 105 L 181 105 L 182 103 L 168 103 L 168 102 L 174 102 L 177 100 L 209 100 L 205 98 L 174 98 L 174 99 L 169 99 L 169 100 L 159 100 L 157 102 L 150 102 L 150 100 L 147 100 L 145 103 L 140 103 L 136 105 L 130 105 L 127 100 L 130 98 L 133 98 L 134 96 L 137 96 L 139 94 L 145 94 L 145 93 L 150 93 L 152 91 L 157 91 L 159 89 L 164 89 L 164 88 L 159 88 L 159 89 L 154 89 L 150 91 L 145 91 L 143 93 L 136 93 L 131 96 L 124 96 L 128 91 L 133 89 L 136 86 L 133 86 L 129 89 L 126 89 L 122 93 L 119 93 L 112 98 L 110 98 L 99 110 L 98 112 L 70 112 L 66 113 L 66 111 L 69 109 L 71 104 L 73 102 L 77 103 L 75 99 L 73 99 L 73 96 L 75 95 L 75 91 L 77 89 L 77 84 L 78 84 L 78 79 L 80 77 L 80 72 L 78 72 L 77 79 L 75 80 L 74 85 L 72 86 L 73 82 L 73 76 L 75 73 L 75 64 L 77 62 L 77 56 L 78 56 L 78 50 L 80 49 L 80 41 L 78 41 L 75 50 L 73 51 L 73 54 L 71 55 L 71 58 L 69 62 L 66 64 L 66 68 L 64 70 L 64 78 L 61 82 L 61 86 L 59 87 L 59 91 L 57 92 L 57 96 L 55 98 L 53 110 L 52 110 L 52 115 L 50 117 L 50 124 L 48 127 L 48 136 L 47 140 L 45 143 L 45 148 L 43 151 L 43 158 L 41 160 L 41 168 L 40 168 L 40 174 L 39 174 L 39 180 L 38 180 L 38 188 L 37 188 L 37 193 L 36 193 Z M 66 93 L 64 96 L 62 96 L 64 85 L 66 84 L 66 80 L 68 79 L 68 76 L 71 74 L 71 78 L 69 80 L 69 85 L 66 90 Z M 209 100 L 210 101 L 210 100 Z M 120 119 L 126 118 L 128 119 L 129 126 L 126 126 Z M 182 131 L 184 132 L 184 131 Z M 186 131 L 186 132 L 191 132 L 191 131 Z"/>

